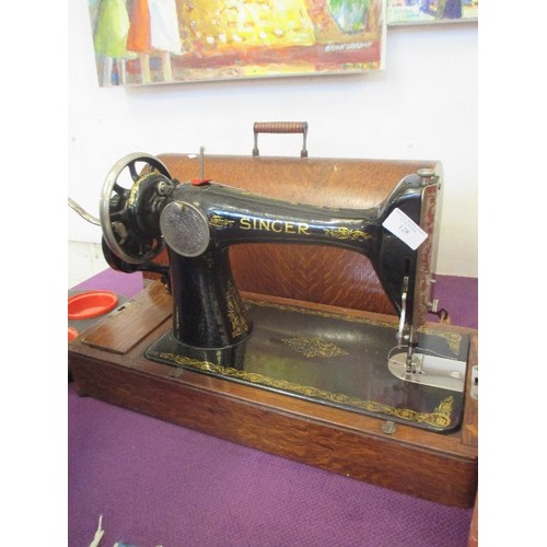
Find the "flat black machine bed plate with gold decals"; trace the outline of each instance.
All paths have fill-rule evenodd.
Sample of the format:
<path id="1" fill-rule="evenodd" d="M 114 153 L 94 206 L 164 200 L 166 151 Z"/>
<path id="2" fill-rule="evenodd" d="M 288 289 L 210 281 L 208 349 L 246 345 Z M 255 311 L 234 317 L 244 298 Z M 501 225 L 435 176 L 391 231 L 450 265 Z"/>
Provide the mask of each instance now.
<path id="1" fill-rule="evenodd" d="M 181 344 L 170 330 L 146 357 L 418 428 L 451 432 L 459 427 L 463 389 L 408 382 L 389 371 L 387 356 L 400 351 L 391 322 L 260 300 L 245 304 L 254 329 L 244 342 L 203 350 Z M 469 337 L 422 329 L 419 347 L 465 369 Z"/>

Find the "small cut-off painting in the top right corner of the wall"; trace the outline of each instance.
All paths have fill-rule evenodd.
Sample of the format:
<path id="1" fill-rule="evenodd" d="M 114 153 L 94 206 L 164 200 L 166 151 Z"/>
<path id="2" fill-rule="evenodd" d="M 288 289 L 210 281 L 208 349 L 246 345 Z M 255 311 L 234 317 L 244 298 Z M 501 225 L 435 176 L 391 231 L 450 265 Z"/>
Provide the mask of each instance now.
<path id="1" fill-rule="evenodd" d="M 387 0 L 387 24 L 478 21 L 478 0 Z"/>

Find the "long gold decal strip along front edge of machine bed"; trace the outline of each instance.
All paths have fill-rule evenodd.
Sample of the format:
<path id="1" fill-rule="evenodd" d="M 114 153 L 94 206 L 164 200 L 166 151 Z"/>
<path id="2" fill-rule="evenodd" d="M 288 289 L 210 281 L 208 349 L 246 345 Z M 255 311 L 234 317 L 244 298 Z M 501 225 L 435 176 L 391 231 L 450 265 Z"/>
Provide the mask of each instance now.
<path id="1" fill-rule="evenodd" d="M 452 422 L 451 414 L 452 407 L 454 405 L 454 397 L 452 395 L 441 400 L 441 403 L 432 412 L 417 412 L 416 410 L 409 410 L 408 408 L 396 408 L 389 405 L 384 405 L 383 403 L 376 403 L 374 400 L 364 400 L 358 397 L 350 397 L 348 395 L 339 393 L 330 393 L 317 387 L 299 385 L 292 382 L 287 382 L 284 380 L 276 380 L 270 376 L 258 374 L 256 372 L 246 372 L 233 369 L 231 366 L 222 366 L 220 364 L 211 363 L 210 361 L 200 361 L 198 359 L 177 356 L 171 352 L 161 351 L 156 352 L 155 356 L 159 359 L 167 361 L 174 365 L 188 366 L 190 369 L 196 369 L 203 372 L 211 372 L 219 376 L 224 376 L 232 380 L 240 380 L 249 382 L 252 384 L 259 384 L 266 387 L 288 391 L 291 393 L 303 395 L 305 397 L 324 399 L 330 403 L 362 409 L 369 412 L 383 414 L 399 418 L 401 420 L 424 423 L 435 428 L 447 428 Z"/>

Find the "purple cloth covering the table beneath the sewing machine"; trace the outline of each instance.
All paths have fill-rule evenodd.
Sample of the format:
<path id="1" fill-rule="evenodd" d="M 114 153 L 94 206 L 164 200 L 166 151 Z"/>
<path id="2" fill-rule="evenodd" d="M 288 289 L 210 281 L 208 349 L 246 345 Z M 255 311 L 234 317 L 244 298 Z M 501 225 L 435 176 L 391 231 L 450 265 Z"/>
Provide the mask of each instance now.
<path id="1" fill-rule="evenodd" d="M 74 289 L 130 298 L 141 288 L 140 275 L 107 270 Z M 439 280 L 437 296 L 444 299 L 440 304 L 453 324 L 476 325 L 476 291 L 477 280 Z M 68 417 L 70 547 L 91 543 L 100 515 L 101 546 L 467 545 L 470 509 L 420 500 L 79 397 L 71 384 Z"/>

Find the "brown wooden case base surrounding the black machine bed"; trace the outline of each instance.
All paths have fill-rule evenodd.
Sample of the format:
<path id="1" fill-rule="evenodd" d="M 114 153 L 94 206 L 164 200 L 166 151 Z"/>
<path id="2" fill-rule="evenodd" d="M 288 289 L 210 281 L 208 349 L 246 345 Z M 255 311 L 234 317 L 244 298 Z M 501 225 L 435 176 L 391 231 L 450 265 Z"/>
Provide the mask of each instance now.
<path id="1" fill-rule="evenodd" d="M 477 364 L 476 331 L 434 325 L 472 338 L 463 423 L 441 434 L 404 423 L 386 428 L 384 419 L 149 361 L 144 351 L 171 328 L 171 298 L 152 282 L 70 342 L 69 371 L 78 393 L 438 503 L 474 505 L 478 409 L 469 386 Z"/>

